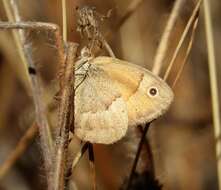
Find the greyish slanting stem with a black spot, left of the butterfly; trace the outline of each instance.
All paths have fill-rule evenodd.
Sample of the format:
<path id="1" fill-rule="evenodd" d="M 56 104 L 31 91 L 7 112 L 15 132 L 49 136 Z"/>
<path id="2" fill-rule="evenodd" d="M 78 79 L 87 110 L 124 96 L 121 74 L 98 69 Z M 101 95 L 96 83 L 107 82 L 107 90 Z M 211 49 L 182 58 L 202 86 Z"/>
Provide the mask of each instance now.
<path id="1" fill-rule="evenodd" d="M 10 5 L 8 4 L 9 8 L 13 10 L 15 13 L 15 21 L 20 22 L 21 18 L 18 13 L 18 7 L 17 3 L 14 0 L 10 1 Z M 7 26 L 9 23 L 1 23 L 1 27 L 3 29 L 9 29 L 7 27 L 4 27 L 4 24 Z M 16 23 L 18 26 L 19 24 Z M 27 24 L 27 23 L 26 23 Z M 13 27 L 11 28 L 13 29 Z M 34 29 L 36 29 L 34 27 Z M 46 174 L 48 177 L 48 180 L 50 178 L 50 169 L 51 169 L 51 160 L 52 160 L 52 148 L 53 148 L 53 142 L 52 142 L 52 136 L 50 127 L 46 118 L 46 107 L 43 99 L 43 88 L 41 85 L 41 81 L 39 78 L 39 75 L 37 74 L 37 71 L 35 69 L 34 60 L 32 57 L 32 45 L 28 42 L 25 36 L 25 32 L 23 30 L 20 30 L 19 32 L 19 40 L 22 45 L 23 51 L 21 52 L 23 57 L 25 58 L 25 63 L 27 64 L 26 67 L 28 68 L 30 80 L 31 80 L 31 86 L 32 86 L 32 96 L 33 101 L 35 105 L 35 115 L 36 115 L 36 122 L 39 126 L 39 134 L 41 139 L 41 148 L 44 155 L 44 164 L 46 169 Z"/>

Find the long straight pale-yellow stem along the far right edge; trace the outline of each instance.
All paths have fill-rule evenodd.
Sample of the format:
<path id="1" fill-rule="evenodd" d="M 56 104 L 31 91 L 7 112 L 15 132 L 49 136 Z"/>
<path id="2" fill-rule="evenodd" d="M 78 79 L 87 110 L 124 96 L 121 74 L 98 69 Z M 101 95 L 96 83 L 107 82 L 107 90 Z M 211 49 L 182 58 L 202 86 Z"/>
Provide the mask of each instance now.
<path id="1" fill-rule="evenodd" d="M 213 109 L 213 125 L 214 135 L 216 140 L 216 159 L 217 159 L 217 174 L 219 189 L 221 189 L 221 126 L 220 126 L 220 110 L 219 110 L 219 94 L 218 94 L 218 81 L 216 70 L 216 59 L 214 50 L 214 39 L 212 30 L 212 19 L 210 13 L 210 1 L 204 0 L 204 15 L 205 15 L 205 31 L 207 40 L 208 51 L 208 66 L 210 75 L 210 88 L 212 96 L 212 109 Z"/>

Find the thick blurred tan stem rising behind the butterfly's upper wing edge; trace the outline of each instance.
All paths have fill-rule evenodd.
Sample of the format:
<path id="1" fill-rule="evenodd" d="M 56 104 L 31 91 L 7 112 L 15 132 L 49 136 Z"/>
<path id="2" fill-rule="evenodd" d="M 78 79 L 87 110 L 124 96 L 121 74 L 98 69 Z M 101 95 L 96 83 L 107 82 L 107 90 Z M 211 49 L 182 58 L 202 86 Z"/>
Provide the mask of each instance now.
<path id="1" fill-rule="evenodd" d="M 173 10 L 170 14 L 170 17 L 168 19 L 168 22 L 166 24 L 166 27 L 164 29 L 163 35 L 160 40 L 159 47 L 156 52 L 156 56 L 154 58 L 154 64 L 153 64 L 153 73 L 156 75 L 160 74 L 161 67 L 163 65 L 163 60 L 166 56 L 166 51 L 168 49 L 169 45 L 169 39 L 171 32 L 173 30 L 173 27 L 175 25 L 175 22 L 177 20 L 177 17 L 179 15 L 179 12 L 181 8 L 183 7 L 184 0 L 176 0 L 173 6 Z"/>

